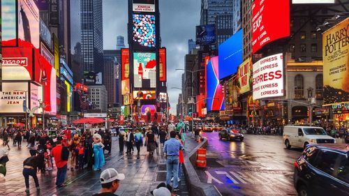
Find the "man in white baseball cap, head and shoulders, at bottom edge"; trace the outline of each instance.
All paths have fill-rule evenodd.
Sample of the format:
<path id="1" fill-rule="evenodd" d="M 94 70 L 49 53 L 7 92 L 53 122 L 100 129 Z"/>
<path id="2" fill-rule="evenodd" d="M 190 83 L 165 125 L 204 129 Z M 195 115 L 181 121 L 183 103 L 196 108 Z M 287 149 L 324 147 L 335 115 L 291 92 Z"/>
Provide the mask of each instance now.
<path id="1" fill-rule="evenodd" d="M 100 193 L 94 196 L 114 196 L 115 191 L 119 188 L 120 181 L 125 179 L 125 174 L 120 174 L 114 168 L 107 168 L 101 173 L 101 186 Z"/>

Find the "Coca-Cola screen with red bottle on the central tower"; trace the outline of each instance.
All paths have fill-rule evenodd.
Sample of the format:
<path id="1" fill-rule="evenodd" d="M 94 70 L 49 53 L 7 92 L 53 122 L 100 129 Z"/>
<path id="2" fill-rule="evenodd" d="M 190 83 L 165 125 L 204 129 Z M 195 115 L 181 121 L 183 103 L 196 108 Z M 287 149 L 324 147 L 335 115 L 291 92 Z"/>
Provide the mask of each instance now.
<path id="1" fill-rule="evenodd" d="M 156 88 L 155 53 L 133 53 L 133 76 L 135 88 Z"/>

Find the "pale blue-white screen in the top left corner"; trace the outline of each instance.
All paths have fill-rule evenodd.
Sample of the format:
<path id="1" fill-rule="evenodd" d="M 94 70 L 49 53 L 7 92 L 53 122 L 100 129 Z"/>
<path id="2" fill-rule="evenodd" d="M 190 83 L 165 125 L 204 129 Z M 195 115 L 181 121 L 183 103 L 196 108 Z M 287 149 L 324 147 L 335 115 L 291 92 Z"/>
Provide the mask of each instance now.
<path id="1" fill-rule="evenodd" d="M 1 0 L 1 40 L 15 40 L 16 15 L 16 1 Z M 15 44 L 6 46 L 15 46 Z"/>

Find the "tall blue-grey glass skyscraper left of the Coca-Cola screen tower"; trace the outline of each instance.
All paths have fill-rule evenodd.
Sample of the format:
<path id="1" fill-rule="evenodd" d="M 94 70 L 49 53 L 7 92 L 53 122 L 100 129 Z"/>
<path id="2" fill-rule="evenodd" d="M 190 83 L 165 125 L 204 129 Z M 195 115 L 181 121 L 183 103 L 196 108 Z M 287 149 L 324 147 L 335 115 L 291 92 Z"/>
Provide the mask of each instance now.
<path id="1" fill-rule="evenodd" d="M 102 0 L 80 0 L 81 51 L 84 71 L 103 72 Z"/>

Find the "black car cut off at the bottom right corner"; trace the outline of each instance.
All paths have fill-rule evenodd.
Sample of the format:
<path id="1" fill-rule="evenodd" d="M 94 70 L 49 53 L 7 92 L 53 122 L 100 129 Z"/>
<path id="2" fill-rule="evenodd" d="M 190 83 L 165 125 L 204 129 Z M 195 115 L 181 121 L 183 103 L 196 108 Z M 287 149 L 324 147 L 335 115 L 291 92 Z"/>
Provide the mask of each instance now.
<path id="1" fill-rule="evenodd" d="M 349 146 L 311 144 L 295 161 L 298 195 L 349 195 Z"/>

